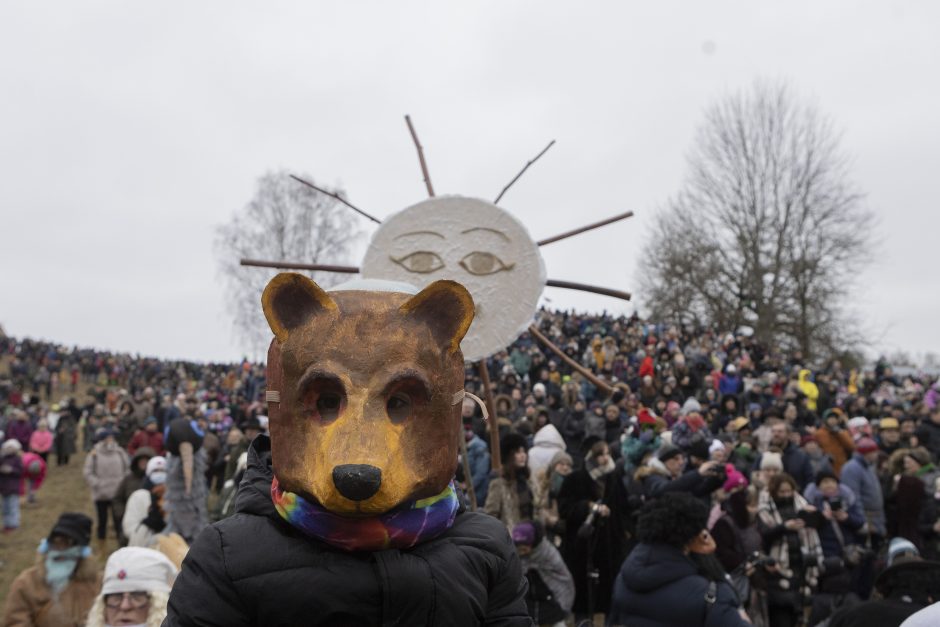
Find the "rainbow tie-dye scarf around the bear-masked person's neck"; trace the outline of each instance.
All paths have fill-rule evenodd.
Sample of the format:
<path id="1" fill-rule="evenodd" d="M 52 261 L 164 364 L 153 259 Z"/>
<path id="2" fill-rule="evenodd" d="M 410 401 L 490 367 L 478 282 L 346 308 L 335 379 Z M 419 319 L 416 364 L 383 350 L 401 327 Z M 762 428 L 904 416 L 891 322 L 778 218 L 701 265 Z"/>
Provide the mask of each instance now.
<path id="1" fill-rule="evenodd" d="M 440 494 L 404 503 L 372 518 L 335 514 L 271 482 L 271 500 L 281 518 L 308 536 L 344 551 L 408 549 L 450 529 L 457 515 L 457 490 L 451 482 Z"/>

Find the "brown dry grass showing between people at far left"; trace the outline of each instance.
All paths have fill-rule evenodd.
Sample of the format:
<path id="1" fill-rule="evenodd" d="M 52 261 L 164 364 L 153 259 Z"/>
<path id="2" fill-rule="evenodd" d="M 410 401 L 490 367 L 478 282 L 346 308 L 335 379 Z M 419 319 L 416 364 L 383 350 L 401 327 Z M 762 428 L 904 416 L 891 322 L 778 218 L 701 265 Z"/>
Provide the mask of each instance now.
<path id="1" fill-rule="evenodd" d="M 7 358 L 4 357 L 0 360 L 0 372 L 6 371 Z M 54 394 L 53 401 L 60 396 Z M 0 607 L 5 604 L 10 584 L 16 576 L 36 562 L 36 547 L 49 533 L 59 514 L 83 512 L 95 519 L 91 493 L 82 478 L 84 461 L 85 455 L 79 453 L 71 458 L 68 466 L 56 466 L 53 456 L 50 456 L 46 481 L 39 490 L 36 503 L 27 505 L 24 502 L 20 508 L 19 530 L 0 536 L 0 561 L 3 562 L 0 566 Z M 92 550 L 102 568 L 108 555 L 117 548 L 113 530 L 109 530 L 109 536 L 104 544 L 92 540 Z"/>

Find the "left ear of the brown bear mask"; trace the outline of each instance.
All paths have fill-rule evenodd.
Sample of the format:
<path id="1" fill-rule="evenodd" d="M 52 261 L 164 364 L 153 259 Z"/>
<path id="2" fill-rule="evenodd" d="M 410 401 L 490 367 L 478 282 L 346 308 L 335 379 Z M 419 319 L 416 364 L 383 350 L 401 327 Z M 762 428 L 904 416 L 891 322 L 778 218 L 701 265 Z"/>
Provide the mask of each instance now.
<path id="1" fill-rule="evenodd" d="M 278 342 L 284 342 L 311 316 L 337 309 L 329 294 L 296 272 L 282 272 L 271 279 L 261 295 L 261 308 Z"/>

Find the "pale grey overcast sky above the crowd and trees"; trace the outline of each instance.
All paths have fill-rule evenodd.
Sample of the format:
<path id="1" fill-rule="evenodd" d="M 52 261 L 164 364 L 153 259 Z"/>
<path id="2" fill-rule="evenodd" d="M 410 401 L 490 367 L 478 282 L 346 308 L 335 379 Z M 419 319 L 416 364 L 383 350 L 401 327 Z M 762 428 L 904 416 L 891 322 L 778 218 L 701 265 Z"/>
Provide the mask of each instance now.
<path id="1" fill-rule="evenodd" d="M 16 336 L 230 360 L 216 225 L 265 171 L 379 217 L 492 199 L 548 276 L 633 291 L 703 109 L 755 79 L 829 114 L 879 217 L 854 306 L 871 350 L 940 351 L 940 3 L 0 3 L 0 324 Z M 361 259 L 372 224 L 349 259 Z M 632 311 L 548 288 L 556 306 Z M 642 310 L 641 310 L 642 313 Z"/>

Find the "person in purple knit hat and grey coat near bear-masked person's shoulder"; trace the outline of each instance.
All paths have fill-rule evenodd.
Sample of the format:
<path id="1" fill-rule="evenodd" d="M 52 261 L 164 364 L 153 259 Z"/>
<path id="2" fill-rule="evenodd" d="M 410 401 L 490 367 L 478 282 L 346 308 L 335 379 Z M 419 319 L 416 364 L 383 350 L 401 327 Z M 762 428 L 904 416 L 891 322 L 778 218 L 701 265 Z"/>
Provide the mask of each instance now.
<path id="1" fill-rule="evenodd" d="M 529 616 L 538 625 L 564 624 L 574 603 L 574 580 L 558 549 L 541 534 L 537 523 L 513 527 L 512 541 L 529 583 Z"/>

